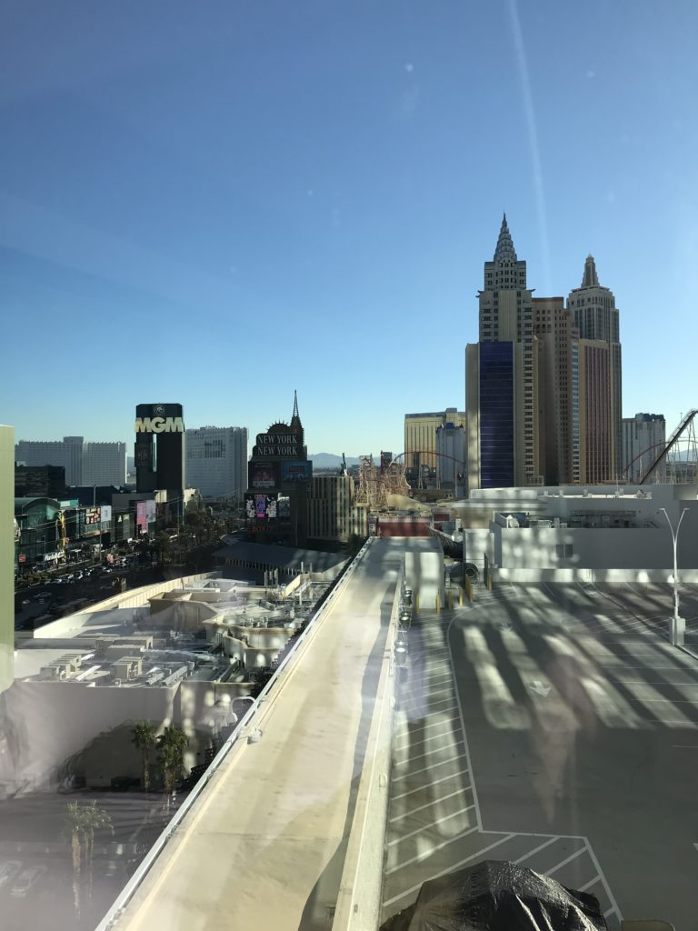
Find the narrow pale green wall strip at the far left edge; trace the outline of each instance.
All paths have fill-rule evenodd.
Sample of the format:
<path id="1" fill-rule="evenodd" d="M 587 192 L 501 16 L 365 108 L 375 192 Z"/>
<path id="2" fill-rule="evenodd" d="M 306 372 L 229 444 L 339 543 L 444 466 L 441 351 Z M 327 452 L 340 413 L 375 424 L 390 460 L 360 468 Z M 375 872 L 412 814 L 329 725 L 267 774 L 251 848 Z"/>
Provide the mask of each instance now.
<path id="1" fill-rule="evenodd" d="M 12 684 L 15 655 L 15 430 L 0 426 L 0 692 Z"/>

